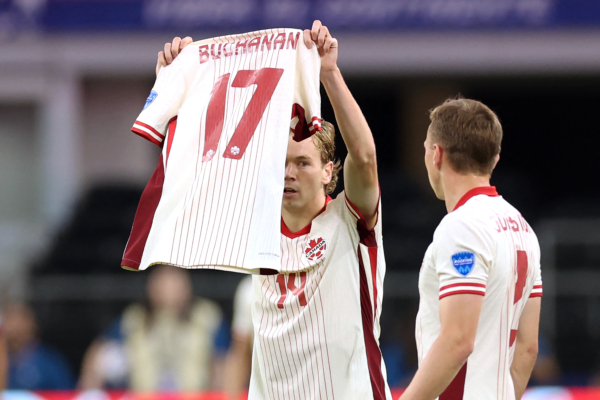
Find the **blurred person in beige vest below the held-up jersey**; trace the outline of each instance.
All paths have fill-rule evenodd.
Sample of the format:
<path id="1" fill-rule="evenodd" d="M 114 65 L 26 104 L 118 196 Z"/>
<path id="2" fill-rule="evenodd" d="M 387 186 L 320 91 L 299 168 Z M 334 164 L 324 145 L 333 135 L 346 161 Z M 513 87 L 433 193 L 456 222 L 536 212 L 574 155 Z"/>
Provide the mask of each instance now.
<path id="1" fill-rule="evenodd" d="M 188 271 L 150 270 L 148 300 L 133 304 L 86 352 L 80 389 L 197 391 L 218 388 L 229 342 L 221 310 L 194 298 Z"/>

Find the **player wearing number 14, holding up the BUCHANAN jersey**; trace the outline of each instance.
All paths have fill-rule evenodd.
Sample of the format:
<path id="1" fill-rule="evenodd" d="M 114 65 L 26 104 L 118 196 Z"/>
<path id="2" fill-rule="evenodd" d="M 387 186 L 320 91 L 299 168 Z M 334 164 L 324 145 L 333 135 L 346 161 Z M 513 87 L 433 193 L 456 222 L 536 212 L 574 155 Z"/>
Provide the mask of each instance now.
<path id="1" fill-rule="evenodd" d="M 334 129 L 289 139 L 282 193 L 281 273 L 253 277 L 250 400 L 388 400 L 378 345 L 385 262 L 375 143 L 337 66 L 338 42 L 320 21 L 304 31 L 348 148 L 335 199 Z M 173 59 L 179 41 L 159 53 Z M 291 110 L 290 110 L 291 114 Z"/>

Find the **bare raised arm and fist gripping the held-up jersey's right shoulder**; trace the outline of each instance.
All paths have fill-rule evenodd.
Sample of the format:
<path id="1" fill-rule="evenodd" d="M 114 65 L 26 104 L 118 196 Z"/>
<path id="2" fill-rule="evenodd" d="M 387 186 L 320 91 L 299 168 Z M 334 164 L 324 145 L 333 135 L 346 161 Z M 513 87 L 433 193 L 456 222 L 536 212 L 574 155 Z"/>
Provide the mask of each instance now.
<path id="1" fill-rule="evenodd" d="M 369 125 L 352 97 L 337 66 L 338 42 L 321 21 L 304 31 L 307 47 L 317 44 L 321 56 L 321 82 L 333 106 L 337 125 L 348 149 L 344 162 L 346 196 L 358 208 L 372 228 L 377 221 L 379 183 L 375 142 Z"/>

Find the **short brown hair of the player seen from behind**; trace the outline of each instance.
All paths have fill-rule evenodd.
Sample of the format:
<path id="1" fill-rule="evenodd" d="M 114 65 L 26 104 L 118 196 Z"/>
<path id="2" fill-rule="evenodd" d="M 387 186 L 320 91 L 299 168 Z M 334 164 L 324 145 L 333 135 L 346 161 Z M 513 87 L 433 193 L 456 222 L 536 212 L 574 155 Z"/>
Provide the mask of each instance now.
<path id="1" fill-rule="evenodd" d="M 461 97 L 431 110 L 430 132 L 459 173 L 491 175 L 500 154 L 502 125 L 485 104 Z"/>

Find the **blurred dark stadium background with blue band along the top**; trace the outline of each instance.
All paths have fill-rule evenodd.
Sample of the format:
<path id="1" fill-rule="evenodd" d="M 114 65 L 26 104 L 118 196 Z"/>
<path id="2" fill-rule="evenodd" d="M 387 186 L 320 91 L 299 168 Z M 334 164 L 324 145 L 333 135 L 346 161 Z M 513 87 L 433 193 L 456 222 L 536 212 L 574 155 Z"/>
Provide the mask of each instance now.
<path id="1" fill-rule="evenodd" d="M 32 306 L 39 338 L 76 378 L 94 338 L 144 298 L 147 274 L 122 271 L 119 261 L 159 154 L 129 131 L 157 52 L 174 36 L 308 28 L 313 19 L 338 38 L 340 68 L 378 148 L 390 383 L 401 387 L 416 368 L 417 276 L 445 214 L 423 167 L 427 111 L 461 93 L 500 117 L 492 183 L 542 246 L 533 383 L 600 386 L 595 0 L 0 0 L 3 302 Z M 334 121 L 324 93 L 323 116 Z M 195 294 L 228 320 L 240 279 L 192 273 Z M 529 396 L 600 398 L 546 390 Z"/>

